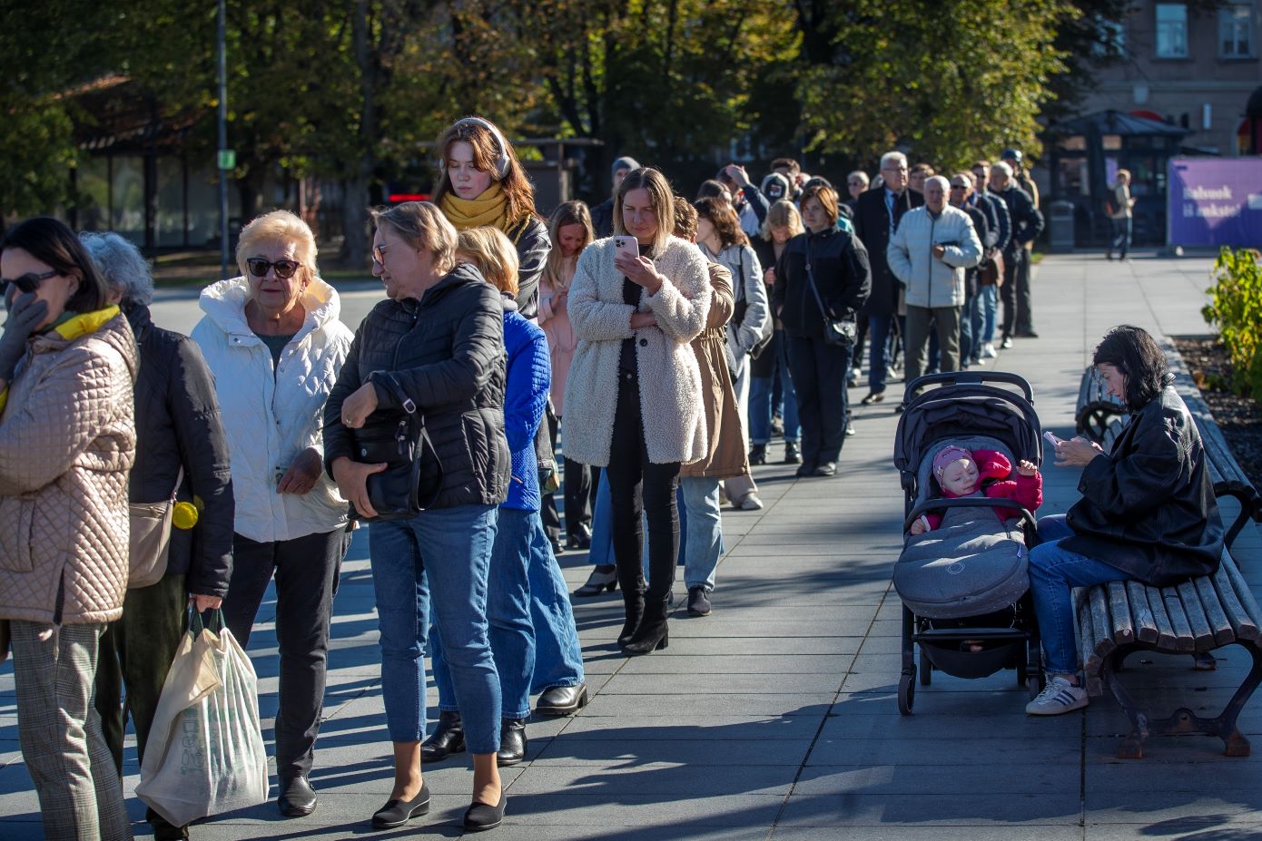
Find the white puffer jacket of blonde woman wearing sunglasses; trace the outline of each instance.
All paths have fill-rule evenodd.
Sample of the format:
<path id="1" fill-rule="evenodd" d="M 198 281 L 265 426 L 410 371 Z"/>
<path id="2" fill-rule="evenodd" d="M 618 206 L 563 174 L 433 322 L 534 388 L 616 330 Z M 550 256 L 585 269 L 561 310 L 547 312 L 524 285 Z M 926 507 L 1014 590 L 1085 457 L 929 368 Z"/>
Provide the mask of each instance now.
<path id="1" fill-rule="evenodd" d="M 328 474 L 300 496 L 276 493 L 276 483 L 309 446 L 323 460 L 324 402 L 355 337 L 338 320 L 337 290 L 317 277 L 299 299 L 307 319 L 273 366 L 268 345 L 246 323 L 249 293 L 244 277 L 207 286 L 206 316 L 192 334 L 215 373 L 232 458 L 236 532 L 274 542 L 333 531 L 346 525 L 347 503 Z"/>

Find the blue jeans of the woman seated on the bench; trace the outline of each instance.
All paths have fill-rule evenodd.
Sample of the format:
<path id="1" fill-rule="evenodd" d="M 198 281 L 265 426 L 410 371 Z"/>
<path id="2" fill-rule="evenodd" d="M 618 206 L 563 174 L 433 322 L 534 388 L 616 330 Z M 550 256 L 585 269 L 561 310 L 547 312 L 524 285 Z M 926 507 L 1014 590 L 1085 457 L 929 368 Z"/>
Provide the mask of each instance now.
<path id="1" fill-rule="evenodd" d="M 1045 542 L 1030 550 L 1030 593 L 1049 675 L 1078 672 L 1078 617 L 1070 590 L 1131 577 L 1104 561 L 1061 548 L 1061 538 L 1073 533 L 1064 514 L 1040 517 L 1039 537 Z"/>

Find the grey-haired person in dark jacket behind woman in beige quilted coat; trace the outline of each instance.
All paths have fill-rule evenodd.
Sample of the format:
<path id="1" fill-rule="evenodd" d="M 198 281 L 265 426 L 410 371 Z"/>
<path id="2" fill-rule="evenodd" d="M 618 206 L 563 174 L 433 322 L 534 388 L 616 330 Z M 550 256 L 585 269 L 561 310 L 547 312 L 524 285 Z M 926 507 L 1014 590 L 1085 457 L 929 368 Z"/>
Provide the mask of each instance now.
<path id="1" fill-rule="evenodd" d="M 110 300 L 126 313 L 140 351 L 136 463 L 129 499 L 163 502 L 174 490 L 182 503 L 170 531 L 165 574 L 155 584 L 129 589 L 122 618 L 101 635 L 96 710 L 121 775 L 126 716 L 131 716 L 136 753 L 144 759 L 189 601 L 199 612 L 209 610 L 227 595 L 236 509 L 215 380 L 197 343 L 154 327 L 148 306 L 153 277 L 134 245 L 116 233 L 85 235 L 83 245 L 110 286 Z M 189 523 L 193 511 L 196 523 Z M 188 837 L 188 827 L 170 826 L 153 809 L 146 818 L 155 838 Z"/>

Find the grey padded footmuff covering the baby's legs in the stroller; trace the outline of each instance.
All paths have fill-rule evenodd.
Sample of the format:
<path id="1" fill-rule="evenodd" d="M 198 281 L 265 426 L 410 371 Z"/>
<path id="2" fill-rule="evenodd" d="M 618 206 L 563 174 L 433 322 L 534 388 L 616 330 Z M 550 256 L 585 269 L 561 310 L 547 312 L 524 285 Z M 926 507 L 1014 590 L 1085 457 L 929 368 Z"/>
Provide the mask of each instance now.
<path id="1" fill-rule="evenodd" d="M 1029 589 L 1027 556 L 1021 519 L 1005 522 L 984 503 L 948 508 L 938 528 L 907 540 L 893 588 L 929 619 L 993 613 Z"/>

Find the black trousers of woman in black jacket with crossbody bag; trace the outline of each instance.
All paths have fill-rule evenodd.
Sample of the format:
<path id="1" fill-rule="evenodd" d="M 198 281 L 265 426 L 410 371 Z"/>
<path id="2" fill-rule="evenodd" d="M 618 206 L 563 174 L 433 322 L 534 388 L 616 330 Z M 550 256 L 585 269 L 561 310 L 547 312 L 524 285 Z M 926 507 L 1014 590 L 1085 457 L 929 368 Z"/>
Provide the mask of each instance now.
<path id="1" fill-rule="evenodd" d="M 785 333 L 789 376 L 798 393 L 803 467 L 837 461 L 846 443 L 846 372 L 851 348 Z"/>

